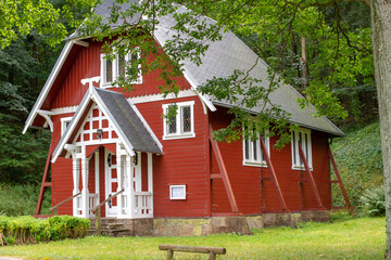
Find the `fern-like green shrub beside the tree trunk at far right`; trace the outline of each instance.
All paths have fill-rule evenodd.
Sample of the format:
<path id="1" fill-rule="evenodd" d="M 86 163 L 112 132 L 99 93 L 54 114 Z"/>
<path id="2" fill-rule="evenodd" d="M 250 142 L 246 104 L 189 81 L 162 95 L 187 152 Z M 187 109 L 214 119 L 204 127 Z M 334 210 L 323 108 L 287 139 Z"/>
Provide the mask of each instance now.
<path id="1" fill-rule="evenodd" d="M 371 187 L 365 191 L 361 196 L 363 209 L 371 217 L 386 214 L 386 196 L 382 186 Z"/>

